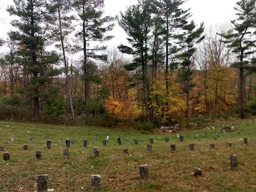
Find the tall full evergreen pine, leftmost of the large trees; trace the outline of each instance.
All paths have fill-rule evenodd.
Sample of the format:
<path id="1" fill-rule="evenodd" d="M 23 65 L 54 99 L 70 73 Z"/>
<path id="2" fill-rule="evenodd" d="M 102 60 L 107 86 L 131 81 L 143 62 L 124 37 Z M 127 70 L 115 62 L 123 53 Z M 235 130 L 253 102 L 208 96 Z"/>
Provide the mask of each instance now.
<path id="1" fill-rule="evenodd" d="M 20 92 L 33 99 L 34 118 L 40 118 L 40 99 L 51 95 L 49 83 L 51 77 L 58 74 L 52 63 L 58 61 L 58 56 L 45 51 L 45 1 L 13 0 L 14 6 L 8 7 L 10 15 L 19 19 L 12 20 L 17 31 L 10 33 L 10 38 L 17 41 L 17 54 L 24 72 L 28 73 L 29 81 Z"/>

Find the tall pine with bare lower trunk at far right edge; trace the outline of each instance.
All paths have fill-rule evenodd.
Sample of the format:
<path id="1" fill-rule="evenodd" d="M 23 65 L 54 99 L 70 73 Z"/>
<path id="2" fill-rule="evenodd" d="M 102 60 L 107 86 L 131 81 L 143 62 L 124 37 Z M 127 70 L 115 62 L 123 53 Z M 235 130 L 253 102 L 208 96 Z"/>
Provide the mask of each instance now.
<path id="1" fill-rule="evenodd" d="M 240 117 L 245 118 L 244 114 L 244 68 L 248 67 L 249 56 L 253 54 L 253 47 L 256 42 L 256 0 L 240 0 L 234 8 L 237 13 L 237 19 L 232 20 L 233 31 L 228 34 L 220 34 L 226 40 L 225 43 L 237 55 L 237 62 L 232 67 L 239 69 L 239 106 Z M 250 69 L 250 68 L 248 68 Z"/>

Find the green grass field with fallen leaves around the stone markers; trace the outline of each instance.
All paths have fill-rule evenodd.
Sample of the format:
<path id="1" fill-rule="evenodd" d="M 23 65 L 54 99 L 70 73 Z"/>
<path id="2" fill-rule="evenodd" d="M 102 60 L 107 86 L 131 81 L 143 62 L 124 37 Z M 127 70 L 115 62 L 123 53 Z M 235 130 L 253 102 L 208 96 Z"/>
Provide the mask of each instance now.
<path id="1" fill-rule="evenodd" d="M 221 131 L 222 124 L 214 125 L 220 135 L 217 140 L 214 129 L 209 127 L 209 138 L 204 129 L 182 131 L 179 134 L 184 141 L 180 142 L 176 133 L 0 122 L 0 146 L 10 152 L 10 161 L 3 161 L 1 155 L 0 191 L 35 191 L 36 175 L 40 174 L 48 174 L 48 187 L 54 191 L 92 191 L 94 174 L 102 177 L 102 191 L 256 191 L 256 124 L 252 120 L 234 124 L 236 131 L 226 134 Z M 196 134 L 199 141 L 195 140 Z M 109 142 L 104 146 L 106 136 Z M 117 145 L 118 136 L 122 145 Z M 164 141 L 166 136 L 169 143 Z M 30 137 L 33 141 L 29 141 Z M 247 146 L 244 137 L 248 138 Z M 74 140 L 68 158 L 63 157 L 66 138 Z M 147 151 L 150 138 L 154 138 L 152 152 Z M 137 145 L 134 139 L 138 139 Z M 4 144 L 6 140 L 10 141 L 8 145 Z M 52 142 L 51 149 L 46 147 L 47 140 Z M 83 140 L 89 141 L 88 147 L 83 147 Z M 227 142 L 232 147 L 227 147 Z M 170 149 L 171 143 L 176 144 L 175 151 Z M 189 150 L 189 143 L 195 144 L 195 150 Z M 23 145 L 28 145 L 29 150 L 23 150 Z M 100 156 L 93 156 L 94 147 L 99 147 Z M 124 148 L 129 154 L 123 154 Z M 42 151 L 42 159 L 36 159 L 35 150 Z M 238 157 L 237 170 L 230 169 L 231 154 Z M 141 184 L 141 164 L 148 164 L 147 184 Z M 203 169 L 202 176 L 191 175 L 195 167 Z"/>

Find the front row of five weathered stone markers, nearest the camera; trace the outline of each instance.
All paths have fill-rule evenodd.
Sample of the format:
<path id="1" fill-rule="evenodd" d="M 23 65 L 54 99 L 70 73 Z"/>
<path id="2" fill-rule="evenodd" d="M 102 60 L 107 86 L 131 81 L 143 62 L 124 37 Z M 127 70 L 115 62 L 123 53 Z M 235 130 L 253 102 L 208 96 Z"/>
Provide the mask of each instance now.
<path id="1" fill-rule="evenodd" d="M 237 161 L 237 156 L 236 155 L 230 156 L 230 168 L 232 170 L 238 168 L 238 161 Z M 192 175 L 200 176 L 200 175 L 202 175 L 202 171 L 203 170 L 200 169 L 200 168 L 195 168 Z M 150 177 L 149 177 L 149 172 L 148 172 L 148 164 L 143 164 L 143 165 L 140 166 L 140 177 L 141 177 L 141 183 L 149 182 Z M 36 192 L 51 191 L 51 189 L 48 189 L 47 179 L 48 179 L 47 174 L 37 175 Z M 92 175 L 91 182 L 92 182 L 92 190 L 93 191 L 100 191 L 101 190 L 101 183 L 102 183 L 101 182 L 101 175 Z"/>

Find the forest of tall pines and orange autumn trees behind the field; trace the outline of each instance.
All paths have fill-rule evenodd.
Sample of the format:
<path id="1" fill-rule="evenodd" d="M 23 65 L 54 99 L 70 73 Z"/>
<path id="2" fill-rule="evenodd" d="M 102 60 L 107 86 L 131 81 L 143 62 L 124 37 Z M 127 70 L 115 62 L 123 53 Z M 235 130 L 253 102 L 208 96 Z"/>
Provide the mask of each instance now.
<path id="1" fill-rule="evenodd" d="M 256 0 L 209 29 L 183 0 L 140 0 L 118 17 L 104 15 L 104 0 L 13 2 L 1 119 L 151 129 L 256 115 Z M 108 47 L 116 20 L 129 44 Z"/>

